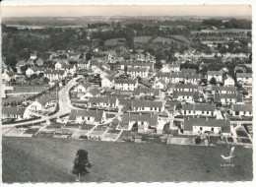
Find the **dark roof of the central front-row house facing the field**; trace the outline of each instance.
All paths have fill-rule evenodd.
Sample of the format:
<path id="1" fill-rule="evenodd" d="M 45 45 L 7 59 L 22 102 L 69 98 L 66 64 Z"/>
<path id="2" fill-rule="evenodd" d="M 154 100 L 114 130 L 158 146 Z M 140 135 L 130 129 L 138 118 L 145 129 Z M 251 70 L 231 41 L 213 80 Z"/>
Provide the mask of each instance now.
<path id="1" fill-rule="evenodd" d="M 134 114 L 124 113 L 122 117 L 122 124 L 128 125 L 130 121 L 133 122 L 148 122 L 150 126 L 157 127 L 158 115 L 157 114 Z"/>

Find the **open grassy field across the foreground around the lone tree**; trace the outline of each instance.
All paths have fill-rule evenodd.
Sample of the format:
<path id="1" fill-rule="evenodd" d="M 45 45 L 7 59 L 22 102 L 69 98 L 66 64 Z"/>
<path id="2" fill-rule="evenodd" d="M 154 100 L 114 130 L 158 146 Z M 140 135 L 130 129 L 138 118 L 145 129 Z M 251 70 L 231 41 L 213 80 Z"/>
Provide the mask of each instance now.
<path id="1" fill-rule="evenodd" d="M 67 139 L 3 137 L 4 182 L 73 182 L 77 150 L 93 164 L 83 181 L 252 180 L 252 150 L 235 148 L 234 167 L 222 167 L 226 147 L 106 143 Z"/>

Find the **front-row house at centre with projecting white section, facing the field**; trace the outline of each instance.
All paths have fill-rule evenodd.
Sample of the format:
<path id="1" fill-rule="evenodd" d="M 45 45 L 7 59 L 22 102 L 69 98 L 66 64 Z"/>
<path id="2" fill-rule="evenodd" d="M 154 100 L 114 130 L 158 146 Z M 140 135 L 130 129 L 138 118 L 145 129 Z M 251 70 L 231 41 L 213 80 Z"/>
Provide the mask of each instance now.
<path id="1" fill-rule="evenodd" d="M 134 114 L 124 113 L 122 121 L 119 124 L 120 129 L 138 128 L 138 133 L 147 133 L 152 128 L 158 126 L 157 114 Z"/>

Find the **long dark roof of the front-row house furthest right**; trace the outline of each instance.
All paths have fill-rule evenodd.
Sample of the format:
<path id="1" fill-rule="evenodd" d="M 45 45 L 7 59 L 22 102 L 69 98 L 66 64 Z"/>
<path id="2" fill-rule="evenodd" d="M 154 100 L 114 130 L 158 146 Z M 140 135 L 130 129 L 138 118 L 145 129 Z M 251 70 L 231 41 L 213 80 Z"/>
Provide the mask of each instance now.
<path id="1" fill-rule="evenodd" d="M 184 119 L 184 131 L 193 131 L 194 126 L 221 127 L 223 133 L 230 133 L 230 121 L 216 118 Z"/>

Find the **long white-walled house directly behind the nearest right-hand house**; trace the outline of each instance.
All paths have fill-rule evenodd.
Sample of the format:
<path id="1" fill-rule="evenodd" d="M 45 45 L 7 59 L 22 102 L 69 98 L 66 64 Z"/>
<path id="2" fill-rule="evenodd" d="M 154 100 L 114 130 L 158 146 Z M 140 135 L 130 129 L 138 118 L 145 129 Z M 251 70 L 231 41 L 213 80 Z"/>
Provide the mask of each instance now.
<path id="1" fill-rule="evenodd" d="M 182 115 L 216 116 L 215 104 L 182 104 Z"/>

